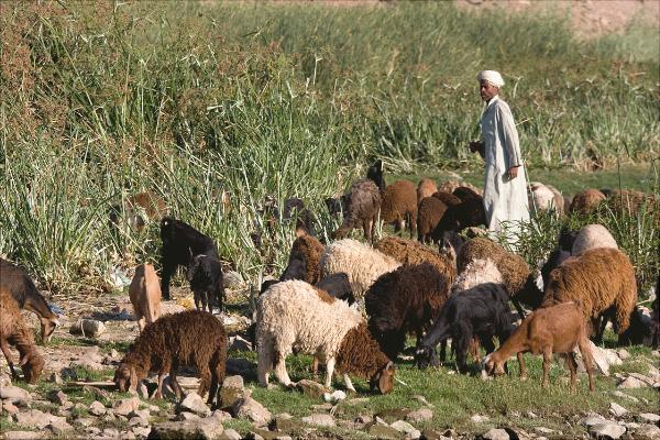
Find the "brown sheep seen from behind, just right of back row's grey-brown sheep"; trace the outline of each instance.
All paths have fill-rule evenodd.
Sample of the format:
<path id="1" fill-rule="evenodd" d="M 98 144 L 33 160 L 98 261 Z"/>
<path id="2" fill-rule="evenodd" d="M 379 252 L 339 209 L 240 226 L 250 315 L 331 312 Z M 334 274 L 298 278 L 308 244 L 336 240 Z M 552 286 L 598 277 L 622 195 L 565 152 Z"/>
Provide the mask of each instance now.
<path id="1" fill-rule="evenodd" d="M 410 238 L 415 237 L 417 228 L 417 191 L 415 184 L 408 180 L 396 180 L 387 185 L 382 194 L 381 220 L 394 223 L 395 232 L 404 229 L 406 222 L 410 230 Z"/>

